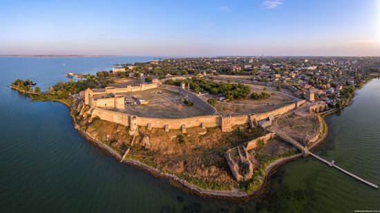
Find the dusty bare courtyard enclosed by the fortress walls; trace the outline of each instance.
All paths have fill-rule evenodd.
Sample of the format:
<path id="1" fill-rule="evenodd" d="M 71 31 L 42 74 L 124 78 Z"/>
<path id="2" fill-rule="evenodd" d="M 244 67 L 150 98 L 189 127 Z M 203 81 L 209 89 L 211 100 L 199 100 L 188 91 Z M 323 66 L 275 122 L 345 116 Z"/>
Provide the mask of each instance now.
<path id="1" fill-rule="evenodd" d="M 155 118 L 185 118 L 189 116 L 207 115 L 207 112 L 202 110 L 196 103 L 186 105 L 180 102 L 180 98 L 182 97 L 180 94 L 160 88 L 128 92 L 122 95 L 124 95 L 126 100 L 131 100 L 133 97 L 136 97 L 137 100 L 149 102 L 149 105 L 126 104 L 125 110 L 119 110 L 119 112 L 126 114 Z M 182 97 L 182 99 L 184 99 L 184 97 Z"/>

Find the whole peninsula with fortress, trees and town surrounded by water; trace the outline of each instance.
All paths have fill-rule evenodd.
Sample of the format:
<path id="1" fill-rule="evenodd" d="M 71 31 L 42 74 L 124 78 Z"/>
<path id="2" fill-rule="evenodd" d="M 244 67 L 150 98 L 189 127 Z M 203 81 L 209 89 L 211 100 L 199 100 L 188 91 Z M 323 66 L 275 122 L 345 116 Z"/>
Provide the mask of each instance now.
<path id="1" fill-rule="evenodd" d="M 349 105 L 377 63 L 165 59 L 117 65 L 46 92 L 22 80 L 11 88 L 68 105 L 75 128 L 120 162 L 201 196 L 247 199 L 279 165 L 312 154 L 328 132 L 323 116 Z"/>

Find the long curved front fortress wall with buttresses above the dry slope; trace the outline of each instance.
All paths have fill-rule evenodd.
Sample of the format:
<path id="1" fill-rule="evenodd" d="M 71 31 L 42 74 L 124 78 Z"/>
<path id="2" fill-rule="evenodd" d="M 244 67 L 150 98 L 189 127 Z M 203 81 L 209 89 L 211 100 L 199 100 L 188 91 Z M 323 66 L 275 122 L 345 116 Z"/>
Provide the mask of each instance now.
<path id="1" fill-rule="evenodd" d="M 289 105 L 285 105 L 282 108 L 278 108 L 276 110 L 272 110 L 265 113 L 239 116 L 221 116 L 220 114 L 214 114 L 206 116 L 192 116 L 178 119 L 162 119 L 135 116 L 131 114 L 115 112 L 112 110 L 106 110 L 104 108 L 99 107 L 95 107 L 92 116 L 98 116 L 99 119 L 105 121 L 111 121 L 115 123 L 120 123 L 125 126 L 129 126 L 131 131 L 135 131 L 137 126 L 144 126 L 149 130 L 151 128 L 164 128 L 167 132 L 169 132 L 169 130 L 182 130 L 182 132 L 186 132 L 186 128 L 199 126 L 202 128 L 220 127 L 222 132 L 230 132 L 234 125 L 256 123 L 257 121 L 267 119 L 271 115 L 276 116 L 278 114 L 283 114 L 285 112 L 294 110 L 303 103 L 305 103 L 305 100 L 296 101 Z"/>

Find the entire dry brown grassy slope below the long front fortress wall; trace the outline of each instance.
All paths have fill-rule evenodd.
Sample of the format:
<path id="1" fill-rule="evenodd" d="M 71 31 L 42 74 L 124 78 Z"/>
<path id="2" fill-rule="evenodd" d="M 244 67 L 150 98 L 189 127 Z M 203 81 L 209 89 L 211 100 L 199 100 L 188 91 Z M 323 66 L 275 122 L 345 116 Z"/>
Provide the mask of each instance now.
<path id="1" fill-rule="evenodd" d="M 85 128 L 91 136 L 120 154 L 131 147 L 133 137 L 123 125 L 94 119 Z M 163 129 L 140 128 L 127 157 L 206 189 L 231 190 L 237 183 L 223 154 L 264 133 L 261 128 L 251 129 L 248 125 L 232 132 L 221 132 L 220 128 L 189 128 L 186 134 L 179 130 L 164 132 Z M 149 137 L 148 145 L 146 136 Z"/>

